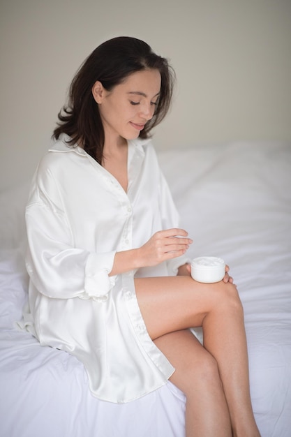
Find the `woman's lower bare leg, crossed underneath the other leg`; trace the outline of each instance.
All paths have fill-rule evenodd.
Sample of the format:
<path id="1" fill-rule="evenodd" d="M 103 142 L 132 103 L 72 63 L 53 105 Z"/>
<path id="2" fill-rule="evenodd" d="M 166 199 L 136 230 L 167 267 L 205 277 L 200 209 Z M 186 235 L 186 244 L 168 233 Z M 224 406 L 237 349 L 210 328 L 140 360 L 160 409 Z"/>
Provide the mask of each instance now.
<path id="1" fill-rule="evenodd" d="M 176 369 L 170 380 L 186 394 L 186 436 L 231 437 L 230 413 L 214 357 L 188 329 L 154 342 Z"/>

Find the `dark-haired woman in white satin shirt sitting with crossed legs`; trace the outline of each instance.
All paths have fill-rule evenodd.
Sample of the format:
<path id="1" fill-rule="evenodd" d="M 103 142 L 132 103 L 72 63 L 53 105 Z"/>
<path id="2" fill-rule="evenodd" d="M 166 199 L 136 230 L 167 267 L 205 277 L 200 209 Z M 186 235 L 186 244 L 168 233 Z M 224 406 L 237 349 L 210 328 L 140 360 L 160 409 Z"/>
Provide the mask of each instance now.
<path id="1" fill-rule="evenodd" d="M 223 281 L 193 281 L 192 243 L 149 140 L 174 75 L 135 38 L 84 61 L 27 205 L 27 329 L 84 363 L 99 399 L 131 401 L 170 379 L 186 394 L 186 435 L 259 436 L 244 316 Z M 204 346 L 188 330 L 203 327 Z"/>

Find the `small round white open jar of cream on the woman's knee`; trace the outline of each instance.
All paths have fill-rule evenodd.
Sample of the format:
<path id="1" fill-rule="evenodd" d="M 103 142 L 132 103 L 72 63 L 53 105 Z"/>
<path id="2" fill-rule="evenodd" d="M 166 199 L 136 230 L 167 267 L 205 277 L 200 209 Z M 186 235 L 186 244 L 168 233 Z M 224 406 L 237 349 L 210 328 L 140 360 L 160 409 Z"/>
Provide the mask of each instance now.
<path id="1" fill-rule="evenodd" d="M 225 275 L 225 262 L 215 256 L 200 256 L 191 262 L 191 276 L 195 281 L 213 283 Z"/>

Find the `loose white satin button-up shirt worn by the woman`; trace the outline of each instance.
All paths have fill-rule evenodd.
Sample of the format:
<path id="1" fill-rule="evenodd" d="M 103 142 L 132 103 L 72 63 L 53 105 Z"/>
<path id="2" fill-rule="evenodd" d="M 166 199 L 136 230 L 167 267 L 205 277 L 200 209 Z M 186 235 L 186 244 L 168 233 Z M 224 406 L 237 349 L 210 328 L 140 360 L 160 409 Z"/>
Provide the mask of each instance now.
<path id="1" fill-rule="evenodd" d="M 114 255 L 178 227 L 179 216 L 150 140 L 128 142 L 127 193 L 66 140 L 43 157 L 31 184 L 29 303 L 20 325 L 43 346 L 75 355 L 94 396 L 124 403 L 161 387 L 174 371 L 147 333 L 134 277 L 177 274 L 186 258 L 109 276 Z"/>

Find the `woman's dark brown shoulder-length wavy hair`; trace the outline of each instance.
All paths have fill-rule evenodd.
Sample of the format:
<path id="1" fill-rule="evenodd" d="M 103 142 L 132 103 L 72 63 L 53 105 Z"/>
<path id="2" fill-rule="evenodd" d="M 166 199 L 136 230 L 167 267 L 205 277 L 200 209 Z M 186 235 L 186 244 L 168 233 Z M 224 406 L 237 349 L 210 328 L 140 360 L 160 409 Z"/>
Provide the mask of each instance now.
<path id="1" fill-rule="evenodd" d="M 70 137 L 69 145 L 81 143 L 84 150 L 101 163 L 105 134 L 92 96 L 94 83 L 99 80 L 111 91 L 130 74 L 149 68 L 161 73 L 161 94 L 154 117 L 140 132 L 140 138 L 148 138 L 151 129 L 163 120 L 170 108 L 174 71 L 167 59 L 155 54 L 147 43 L 129 36 L 107 40 L 85 59 L 70 84 L 68 103 L 58 114 L 59 123 L 53 138 L 58 140 L 61 133 L 66 133 Z"/>

